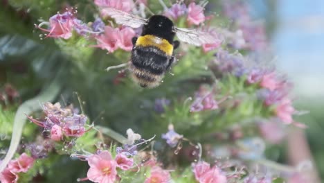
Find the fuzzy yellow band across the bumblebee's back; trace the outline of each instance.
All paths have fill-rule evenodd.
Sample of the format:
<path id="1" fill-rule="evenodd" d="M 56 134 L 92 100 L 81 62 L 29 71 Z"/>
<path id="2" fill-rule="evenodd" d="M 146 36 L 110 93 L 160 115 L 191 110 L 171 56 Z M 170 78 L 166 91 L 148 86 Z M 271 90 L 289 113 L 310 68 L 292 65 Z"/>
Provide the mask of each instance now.
<path id="1" fill-rule="evenodd" d="M 168 40 L 154 35 L 143 35 L 138 37 L 136 46 L 156 46 L 167 55 L 172 55 L 173 52 L 173 46 L 168 42 Z"/>

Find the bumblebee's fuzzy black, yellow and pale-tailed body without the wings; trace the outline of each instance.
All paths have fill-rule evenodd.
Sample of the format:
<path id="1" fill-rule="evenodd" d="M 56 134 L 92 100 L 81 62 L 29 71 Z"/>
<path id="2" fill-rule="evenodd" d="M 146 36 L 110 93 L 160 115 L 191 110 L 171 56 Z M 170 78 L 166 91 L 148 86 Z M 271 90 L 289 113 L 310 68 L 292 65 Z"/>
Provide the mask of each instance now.
<path id="1" fill-rule="evenodd" d="M 133 38 L 132 78 L 141 87 L 156 87 L 165 71 L 174 62 L 173 50 L 179 46 L 174 39 L 173 23 L 167 17 L 154 15 L 143 26 L 140 37 Z"/>

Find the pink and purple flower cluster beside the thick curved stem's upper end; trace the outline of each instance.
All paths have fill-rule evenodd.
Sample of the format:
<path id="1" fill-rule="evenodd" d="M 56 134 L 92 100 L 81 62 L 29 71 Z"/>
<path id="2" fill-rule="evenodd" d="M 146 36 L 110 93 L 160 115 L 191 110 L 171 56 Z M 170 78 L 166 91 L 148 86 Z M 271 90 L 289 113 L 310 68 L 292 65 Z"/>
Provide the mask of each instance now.
<path id="1" fill-rule="evenodd" d="M 62 108 L 60 103 L 45 103 L 45 121 L 38 121 L 28 116 L 28 119 L 44 128 L 44 131 L 51 132 L 53 141 L 62 141 L 65 137 L 81 137 L 87 122 L 87 116 L 75 114 L 70 107 Z"/>

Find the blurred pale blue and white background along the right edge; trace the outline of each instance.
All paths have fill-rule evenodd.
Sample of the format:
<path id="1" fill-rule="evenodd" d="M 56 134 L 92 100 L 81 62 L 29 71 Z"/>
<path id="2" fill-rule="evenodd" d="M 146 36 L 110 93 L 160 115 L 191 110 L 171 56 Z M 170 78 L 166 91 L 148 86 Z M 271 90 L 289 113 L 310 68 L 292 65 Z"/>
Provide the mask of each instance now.
<path id="1" fill-rule="evenodd" d="M 268 26 L 276 66 L 294 82 L 296 108 L 309 111 L 298 116 L 296 121 L 308 125 L 305 130 L 307 142 L 323 180 L 324 1 L 253 0 L 249 3 L 253 7 L 251 14 L 264 19 Z M 300 132 L 297 134 L 303 135 Z M 300 138 L 291 140 L 298 141 Z M 294 153 L 301 151 L 295 149 Z"/>

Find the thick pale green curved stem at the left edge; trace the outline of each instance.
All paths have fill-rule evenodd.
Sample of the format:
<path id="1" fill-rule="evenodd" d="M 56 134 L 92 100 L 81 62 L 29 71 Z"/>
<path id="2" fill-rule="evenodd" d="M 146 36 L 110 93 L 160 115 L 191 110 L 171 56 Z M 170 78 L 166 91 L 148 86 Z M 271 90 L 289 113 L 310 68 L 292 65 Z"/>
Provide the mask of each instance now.
<path id="1" fill-rule="evenodd" d="M 21 139 L 22 130 L 24 129 L 24 125 L 26 123 L 27 117 L 26 114 L 30 114 L 31 112 L 35 112 L 36 110 L 42 109 L 42 106 L 39 103 L 53 101 L 57 94 L 60 92 L 60 85 L 58 85 L 58 80 L 55 79 L 51 85 L 49 85 L 46 89 L 44 89 L 38 96 L 32 98 L 28 101 L 22 103 L 15 114 L 15 120 L 12 128 L 12 136 L 10 141 L 10 146 L 6 157 L 0 164 L 0 172 L 6 168 L 7 164 L 12 159 L 13 155 L 19 146 L 19 141 Z"/>

